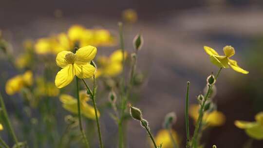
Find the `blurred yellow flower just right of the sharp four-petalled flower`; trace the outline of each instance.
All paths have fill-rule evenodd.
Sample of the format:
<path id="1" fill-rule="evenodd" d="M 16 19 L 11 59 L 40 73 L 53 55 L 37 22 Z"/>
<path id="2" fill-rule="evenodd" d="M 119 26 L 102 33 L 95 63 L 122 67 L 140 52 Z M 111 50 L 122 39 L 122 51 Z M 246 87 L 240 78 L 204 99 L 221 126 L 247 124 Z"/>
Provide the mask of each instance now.
<path id="1" fill-rule="evenodd" d="M 124 53 L 125 59 L 127 58 L 127 52 Z M 98 69 L 96 76 L 116 76 L 122 72 L 122 51 L 116 50 L 109 57 L 100 56 L 97 59 Z"/>

